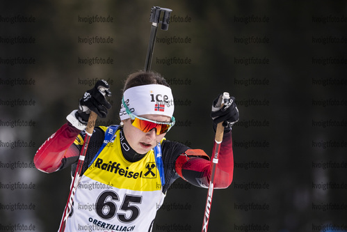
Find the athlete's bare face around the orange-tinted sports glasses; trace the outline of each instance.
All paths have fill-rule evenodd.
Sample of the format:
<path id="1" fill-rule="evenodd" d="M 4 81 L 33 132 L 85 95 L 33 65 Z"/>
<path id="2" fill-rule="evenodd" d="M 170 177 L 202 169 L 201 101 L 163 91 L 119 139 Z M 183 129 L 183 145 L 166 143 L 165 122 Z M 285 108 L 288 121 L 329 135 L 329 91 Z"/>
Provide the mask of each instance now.
<path id="1" fill-rule="evenodd" d="M 142 118 L 147 118 L 152 121 L 159 122 L 170 122 L 169 116 L 162 116 L 156 114 L 144 114 L 140 115 Z M 131 120 L 124 120 L 123 131 L 124 136 L 127 139 L 131 148 L 133 148 L 138 154 L 145 154 L 150 151 L 154 146 L 156 146 L 157 142 L 161 141 L 166 133 L 156 134 L 156 129 L 152 129 L 149 132 L 145 133 L 142 130 L 131 125 Z"/>

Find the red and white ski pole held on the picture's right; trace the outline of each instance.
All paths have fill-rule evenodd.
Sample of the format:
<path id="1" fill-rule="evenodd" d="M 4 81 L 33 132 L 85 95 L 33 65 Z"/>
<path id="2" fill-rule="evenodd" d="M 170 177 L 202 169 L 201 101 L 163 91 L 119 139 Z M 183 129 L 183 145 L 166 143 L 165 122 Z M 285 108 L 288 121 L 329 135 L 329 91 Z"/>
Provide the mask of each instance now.
<path id="1" fill-rule="evenodd" d="M 215 107 L 222 108 L 224 105 L 224 100 L 229 99 L 229 93 L 223 93 L 222 98 L 220 98 L 220 102 L 218 101 L 218 105 Z M 213 160 L 212 161 L 212 170 L 211 170 L 211 177 L 209 181 L 209 192 L 207 192 L 207 200 L 204 210 L 204 221 L 202 223 L 202 232 L 207 232 L 207 227 L 209 225 L 209 216 L 211 214 L 211 205 L 212 205 L 212 196 L 213 196 L 213 184 L 214 184 L 214 178 L 216 176 L 216 168 L 218 164 L 218 155 L 219 155 L 219 149 L 220 144 L 223 141 L 223 134 L 224 134 L 224 127 L 223 122 L 220 122 L 217 124 L 216 128 L 216 135 L 214 137 L 214 149 L 213 149 Z"/>

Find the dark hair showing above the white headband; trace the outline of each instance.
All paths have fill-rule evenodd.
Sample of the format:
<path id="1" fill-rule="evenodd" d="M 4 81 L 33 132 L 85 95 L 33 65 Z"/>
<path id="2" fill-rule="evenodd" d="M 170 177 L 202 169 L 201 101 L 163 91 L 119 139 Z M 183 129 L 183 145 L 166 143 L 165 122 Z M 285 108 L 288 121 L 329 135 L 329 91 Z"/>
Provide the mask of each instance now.
<path id="1" fill-rule="evenodd" d="M 166 80 L 161 77 L 158 72 L 145 72 L 143 70 L 140 70 L 138 72 L 131 73 L 127 77 L 124 82 L 123 93 L 128 88 L 143 86 L 145 84 L 162 84 L 163 86 L 168 86 L 170 88 L 168 82 L 166 82 Z"/>

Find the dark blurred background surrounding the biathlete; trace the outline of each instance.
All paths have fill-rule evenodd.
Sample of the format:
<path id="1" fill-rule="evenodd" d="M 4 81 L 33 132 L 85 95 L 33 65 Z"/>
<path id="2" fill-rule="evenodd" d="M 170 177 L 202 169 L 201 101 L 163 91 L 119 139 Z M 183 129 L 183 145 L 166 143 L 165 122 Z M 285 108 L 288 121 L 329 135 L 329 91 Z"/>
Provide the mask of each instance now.
<path id="1" fill-rule="evenodd" d="M 158 38 L 191 39 L 156 42 L 154 49 L 152 70 L 184 102 L 175 107 L 180 123 L 167 138 L 210 154 L 211 102 L 228 91 L 239 105 L 234 180 L 213 194 L 209 231 L 347 231 L 346 1 L 172 0 L 1 2 L 0 231 L 17 224 L 58 230 L 70 170 L 38 171 L 35 151 L 92 88 L 83 84 L 88 80 L 111 84 L 113 108 L 103 122 L 119 123 L 122 83 L 145 63 L 152 6 L 171 8 L 176 20 Z M 35 22 L 6 21 L 17 15 Z M 79 22 L 92 15 L 113 22 Z M 17 36 L 35 42 L 6 42 Z M 87 36 L 109 36 L 113 43 L 79 42 Z M 79 63 L 95 56 L 113 63 Z M 174 57 L 191 63 L 159 62 Z M 246 64 L 252 57 L 268 62 Z M 35 63 L 6 63 L 15 58 Z M 8 105 L 14 100 L 35 105 Z M 15 121 L 22 124 L 11 126 Z M 27 146 L 8 146 L 18 140 Z M 18 182 L 27 188 L 11 190 Z M 206 196 L 207 190 L 177 180 L 153 231 L 200 231 Z M 17 203 L 25 207 L 10 208 Z M 255 205 L 261 207 L 249 208 Z"/>

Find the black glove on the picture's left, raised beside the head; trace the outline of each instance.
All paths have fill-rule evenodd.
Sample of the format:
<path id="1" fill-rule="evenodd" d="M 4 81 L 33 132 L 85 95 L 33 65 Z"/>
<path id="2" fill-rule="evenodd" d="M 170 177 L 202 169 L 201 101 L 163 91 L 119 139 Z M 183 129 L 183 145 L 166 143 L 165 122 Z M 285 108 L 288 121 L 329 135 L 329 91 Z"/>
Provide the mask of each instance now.
<path id="1" fill-rule="evenodd" d="M 94 111 L 97 116 L 106 118 L 111 104 L 106 100 L 105 95 L 110 97 L 110 86 L 102 79 L 95 83 L 94 88 L 86 91 L 83 98 L 79 100 L 79 109 L 76 111 L 76 118 L 80 123 L 87 124 L 90 111 Z"/>

